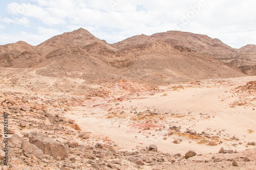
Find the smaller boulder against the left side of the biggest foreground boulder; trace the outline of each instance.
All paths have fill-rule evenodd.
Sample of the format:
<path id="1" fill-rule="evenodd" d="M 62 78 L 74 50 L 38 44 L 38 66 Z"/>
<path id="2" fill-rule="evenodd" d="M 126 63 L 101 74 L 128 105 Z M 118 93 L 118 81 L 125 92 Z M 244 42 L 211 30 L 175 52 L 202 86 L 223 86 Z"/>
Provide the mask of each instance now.
<path id="1" fill-rule="evenodd" d="M 37 158 L 42 159 L 44 156 L 44 153 L 42 152 L 42 150 L 40 150 L 39 148 L 36 147 L 36 145 L 28 141 L 24 141 L 22 143 L 22 153 L 29 158 L 31 158 L 32 155 L 34 155 Z"/>

